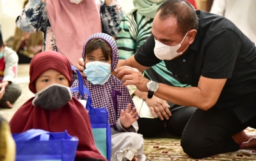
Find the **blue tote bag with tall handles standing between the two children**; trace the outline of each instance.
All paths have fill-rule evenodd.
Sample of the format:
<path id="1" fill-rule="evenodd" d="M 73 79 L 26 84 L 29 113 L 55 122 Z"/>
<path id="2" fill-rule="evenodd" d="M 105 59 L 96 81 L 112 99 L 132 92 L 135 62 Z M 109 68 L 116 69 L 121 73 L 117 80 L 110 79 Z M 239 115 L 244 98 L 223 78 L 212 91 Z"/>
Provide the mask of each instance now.
<path id="1" fill-rule="evenodd" d="M 79 86 L 76 88 L 72 88 L 71 92 L 79 92 L 84 100 L 84 93 L 88 95 L 88 99 L 86 100 L 86 110 L 88 111 L 91 126 L 93 139 L 95 142 L 95 146 L 100 151 L 100 154 L 106 157 L 108 160 L 111 158 L 111 129 L 108 123 L 108 111 L 106 108 L 93 108 L 92 107 L 92 98 L 90 95 L 90 91 L 88 88 L 83 86 L 83 78 L 79 71 L 72 66 L 72 70 L 76 70 L 77 80 L 79 82 Z"/>

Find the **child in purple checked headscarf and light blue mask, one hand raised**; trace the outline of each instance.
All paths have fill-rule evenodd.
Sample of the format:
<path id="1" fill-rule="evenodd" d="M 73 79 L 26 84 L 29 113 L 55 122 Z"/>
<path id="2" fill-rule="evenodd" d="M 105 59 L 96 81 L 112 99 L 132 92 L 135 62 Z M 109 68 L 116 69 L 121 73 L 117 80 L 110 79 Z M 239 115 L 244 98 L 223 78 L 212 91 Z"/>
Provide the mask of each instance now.
<path id="1" fill-rule="evenodd" d="M 86 69 L 83 84 L 92 96 L 92 106 L 106 107 L 109 112 L 112 148 L 111 160 L 145 160 L 144 139 L 138 131 L 138 111 L 134 108 L 127 88 L 111 72 L 118 63 L 118 50 L 115 40 L 104 33 L 96 33 L 88 38 L 83 47 Z M 74 81 L 72 88 L 79 86 Z M 79 92 L 72 95 L 82 100 Z M 88 98 L 84 94 L 84 98 Z"/>

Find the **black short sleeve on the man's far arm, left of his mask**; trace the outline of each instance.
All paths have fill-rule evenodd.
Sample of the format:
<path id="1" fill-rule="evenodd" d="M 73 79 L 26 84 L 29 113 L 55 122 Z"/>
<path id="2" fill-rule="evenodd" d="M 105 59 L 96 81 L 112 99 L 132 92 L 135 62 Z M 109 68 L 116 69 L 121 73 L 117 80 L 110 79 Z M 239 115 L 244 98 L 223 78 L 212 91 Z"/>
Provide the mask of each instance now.
<path id="1" fill-rule="evenodd" d="M 138 51 L 135 53 L 135 60 L 143 66 L 154 66 L 160 63 L 161 60 L 158 59 L 154 54 L 155 40 L 154 36 L 151 34 L 147 41 L 143 43 Z"/>

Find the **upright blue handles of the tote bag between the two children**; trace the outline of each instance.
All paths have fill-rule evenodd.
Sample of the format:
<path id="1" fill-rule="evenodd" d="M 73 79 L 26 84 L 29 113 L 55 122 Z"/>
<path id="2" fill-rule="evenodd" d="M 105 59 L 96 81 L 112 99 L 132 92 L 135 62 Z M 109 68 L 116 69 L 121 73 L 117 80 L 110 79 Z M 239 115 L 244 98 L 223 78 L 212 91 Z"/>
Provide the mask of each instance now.
<path id="1" fill-rule="evenodd" d="M 95 110 L 93 109 L 93 107 L 92 107 L 92 98 L 91 98 L 90 91 L 89 91 L 88 88 L 84 87 L 84 85 L 83 85 L 83 77 L 82 77 L 81 73 L 80 73 L 79 70 L 77 70 L 77 68 L 76 68 L 75 66 L 73 66 L 73 65 L 71 65 L 71 69 L 72 69 L 72 70 L 76 70 L 77 81 L 78 81 L 78 87 L 75 87 L 75 88 L 70 89 L 71 92 L 76 92 L 76 91 L 78 91 L 78 92 L 80 93 L 80 95 L 83 97 L 84 100 L 86 100 L 86 99 L 84 98 L 84 93 L 85 93 L 86 95 L 88 95 L 88 99 L 86 100 L 86 102 L 87 102 L 87 103 L 86 103 L 86 110 L 88 110 L 88 111 L 91 111 L 91 110 L 95 111 Z"/>

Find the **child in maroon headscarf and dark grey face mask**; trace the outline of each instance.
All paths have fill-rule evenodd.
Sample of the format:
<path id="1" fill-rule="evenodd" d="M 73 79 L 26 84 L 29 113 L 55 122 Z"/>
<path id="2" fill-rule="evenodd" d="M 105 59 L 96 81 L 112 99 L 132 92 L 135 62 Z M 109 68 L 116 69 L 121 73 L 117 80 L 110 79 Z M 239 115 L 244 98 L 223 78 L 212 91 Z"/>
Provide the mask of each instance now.
<path id="1" fill-rule="evenodd" d="M 93 141 L 88 112 L 68 88 L 72 84 L 72 70 L 67 58 L 55 51 L 36 54 L 30 63 L 29 76 L 29 89 L 36 96 L 13 115 L 12 134 L 31 128 L 49 132 L 67 130 L 79 139 L 76 160 L 106 160 Z"/>

